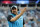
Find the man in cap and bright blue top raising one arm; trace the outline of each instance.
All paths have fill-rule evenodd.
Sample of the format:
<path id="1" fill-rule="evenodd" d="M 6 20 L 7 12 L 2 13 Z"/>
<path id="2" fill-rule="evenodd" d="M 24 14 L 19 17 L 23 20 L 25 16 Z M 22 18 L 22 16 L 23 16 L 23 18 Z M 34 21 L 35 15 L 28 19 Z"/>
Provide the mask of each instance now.
<path id="1" fill-rule="evenodd" d="M 17 6 L 12 6 L 11 14 L 7 17 L 9 27 L 23 27 L 25 23 L 23 23 L 23 13 L 26 11 L 24 8 L 20 14 L 17 14 Z"/>

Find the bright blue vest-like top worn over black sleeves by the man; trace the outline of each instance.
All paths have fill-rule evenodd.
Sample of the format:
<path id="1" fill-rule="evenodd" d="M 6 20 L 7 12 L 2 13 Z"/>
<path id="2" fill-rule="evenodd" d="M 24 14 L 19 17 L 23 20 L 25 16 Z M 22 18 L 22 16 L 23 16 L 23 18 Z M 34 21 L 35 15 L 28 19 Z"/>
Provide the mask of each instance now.
<path id="1" fill-rule="evenodd" d="M 11 14 L 13 17 L 15 17 L 16 15 Z M 10 22 L 8 21 L 9 27 L 23 27 L 23 16 L 21 16 L 18 20 L 14 21 L 14 22 Z"/>

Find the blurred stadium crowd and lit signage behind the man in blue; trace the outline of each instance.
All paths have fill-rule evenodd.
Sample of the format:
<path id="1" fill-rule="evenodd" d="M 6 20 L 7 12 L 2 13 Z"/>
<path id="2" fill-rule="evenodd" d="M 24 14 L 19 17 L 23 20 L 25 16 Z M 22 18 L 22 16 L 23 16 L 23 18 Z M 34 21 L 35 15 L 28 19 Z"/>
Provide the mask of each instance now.
<path id="1" fill-rule="evenodd" d="M 11 6 L 17 5 L 18 14 L 24 7 L 25 27 L 40 27 L 40 0 L 0 0 L 0 27 L 8 27 L 7 16 Z"/>

